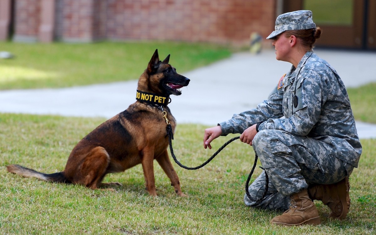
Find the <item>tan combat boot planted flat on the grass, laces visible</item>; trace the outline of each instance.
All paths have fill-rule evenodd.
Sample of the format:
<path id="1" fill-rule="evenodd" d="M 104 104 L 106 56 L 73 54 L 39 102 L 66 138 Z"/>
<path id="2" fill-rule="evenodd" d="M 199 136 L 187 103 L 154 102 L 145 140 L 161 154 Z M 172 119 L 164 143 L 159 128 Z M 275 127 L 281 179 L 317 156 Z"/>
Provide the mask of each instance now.
<path id="1" fill-rule="evenodd" d="M 291 196 L 290 209 L 282 215 L 274 217 L 271 223 L 278 225 L 317 225 L 321 223 L 321 220 L 315 204 L 308 196 L 308 191 L 303 190 Z"/>

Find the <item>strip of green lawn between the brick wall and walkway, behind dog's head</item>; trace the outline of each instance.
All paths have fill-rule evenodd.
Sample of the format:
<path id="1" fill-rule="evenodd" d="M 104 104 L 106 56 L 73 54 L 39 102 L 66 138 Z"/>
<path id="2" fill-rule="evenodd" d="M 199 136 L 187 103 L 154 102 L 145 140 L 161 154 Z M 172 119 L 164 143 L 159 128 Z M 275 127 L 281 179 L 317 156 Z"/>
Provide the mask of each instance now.
<path id="1" fill-rule="evenodd" d="M 88 85 L 138 79 L 155 49 L 185 72 L 230 56 L 226 47 L 185 42 L 23 44 L 0 42 L 15 55 L 0 61 L 0 90 Z"/>

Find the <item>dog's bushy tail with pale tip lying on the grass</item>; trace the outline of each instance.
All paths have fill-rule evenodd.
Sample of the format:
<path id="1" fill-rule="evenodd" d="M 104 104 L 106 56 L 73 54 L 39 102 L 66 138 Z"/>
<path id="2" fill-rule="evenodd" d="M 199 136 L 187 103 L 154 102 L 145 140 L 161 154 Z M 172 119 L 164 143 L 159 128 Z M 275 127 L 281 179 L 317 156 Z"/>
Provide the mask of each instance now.
<path id="1" fill-rule="evenodd" d="M 35 177 L 41 180 L 57 183 L 70 183 L 69 180 L 65 177 L 64 172 L 44 174 L 20 165 L 9 165 L 6 168 L 10 173 L 19 174 L 23 177 Z"/>

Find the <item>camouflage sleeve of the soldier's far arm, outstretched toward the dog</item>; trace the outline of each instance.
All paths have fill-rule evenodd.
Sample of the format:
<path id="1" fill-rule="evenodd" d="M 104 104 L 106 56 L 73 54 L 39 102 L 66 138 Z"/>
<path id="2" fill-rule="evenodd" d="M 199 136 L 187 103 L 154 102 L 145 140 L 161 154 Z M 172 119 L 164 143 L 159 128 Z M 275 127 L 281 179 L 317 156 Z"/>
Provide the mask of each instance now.
<path id="1" fill-rule="evenodd" d="M 264 100 L 255 109 L 234 114 L 230 120 L 219 123 L 222 135 L 243 133 L 244 130 L 253 124 L 264 122 L 269 118 L 282 117 L 282 100 L 283 91 L 282 89 L 278 90 L 276 86 L 270 93 L 268 100 Z"/>

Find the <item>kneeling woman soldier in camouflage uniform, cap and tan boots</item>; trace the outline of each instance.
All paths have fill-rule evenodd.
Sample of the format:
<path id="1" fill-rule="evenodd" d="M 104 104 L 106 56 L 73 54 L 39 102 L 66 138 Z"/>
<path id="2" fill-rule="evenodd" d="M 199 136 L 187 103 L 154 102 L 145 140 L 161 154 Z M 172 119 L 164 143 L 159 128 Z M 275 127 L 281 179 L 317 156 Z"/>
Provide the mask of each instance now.
<path id="1" fill-rule="evenodd" d="M 203 144 L 220 135 L 241 133 L 253 146 L 269 176 L 263 172 L 249 186 L 248 206 L 287 210 L 273 224 L 320 224 L 313 200 L 331 209 L 330 217 L 343 219 L 350 208 L 349 176 L 362 152 L 346 88 L 340 76 L 312 50 L 321 29 L 311 11 L 279 15 L 273 40 L 276 59 L 292 64 L 268 99 L 255 109 L 205 130 Z"/>

